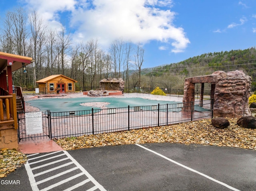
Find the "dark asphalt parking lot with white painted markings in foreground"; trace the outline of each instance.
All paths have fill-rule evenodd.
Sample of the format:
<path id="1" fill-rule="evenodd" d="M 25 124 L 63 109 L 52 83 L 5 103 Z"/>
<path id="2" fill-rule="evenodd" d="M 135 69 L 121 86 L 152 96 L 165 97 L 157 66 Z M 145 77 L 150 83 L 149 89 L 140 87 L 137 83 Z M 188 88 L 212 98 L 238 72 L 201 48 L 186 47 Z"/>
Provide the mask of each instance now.
<path id="1" fill-rule="evenodd" d="M 105 146 L 31 155 L 25 166 L 0 179 L 1 190 L 256 190 L 256 152 L 241 148 Z"/>

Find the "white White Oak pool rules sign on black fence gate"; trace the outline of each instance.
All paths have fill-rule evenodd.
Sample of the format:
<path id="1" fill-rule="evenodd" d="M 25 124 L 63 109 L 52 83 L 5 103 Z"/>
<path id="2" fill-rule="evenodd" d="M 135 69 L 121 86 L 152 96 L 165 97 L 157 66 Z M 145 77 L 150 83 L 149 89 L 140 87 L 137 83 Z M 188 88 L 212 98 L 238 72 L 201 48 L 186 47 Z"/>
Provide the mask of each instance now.
<path id="1" fill-rule="evenodd" d="M 43 133 L 42 112 L 26 112 L 26 134 Z"/>

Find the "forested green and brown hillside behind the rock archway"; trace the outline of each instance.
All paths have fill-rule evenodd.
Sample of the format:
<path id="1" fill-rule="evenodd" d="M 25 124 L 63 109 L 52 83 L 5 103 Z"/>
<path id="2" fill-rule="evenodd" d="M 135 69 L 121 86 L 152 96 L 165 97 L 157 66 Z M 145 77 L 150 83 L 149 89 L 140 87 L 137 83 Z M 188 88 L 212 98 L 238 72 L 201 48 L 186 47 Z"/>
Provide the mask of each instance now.
<path id="1" fill-rule="evenodd" d="M 242 70 L 252 77 L 252 91 L 256 89 L 256 49 L 221 51 L 204 53 L 179 63 L 172 63 L 142 70 L 144 81 L 148 79 L 152 86 L 182 87 L 186 77 L 210 75 L 214 71 Z M 182 81 L 182 83 L 180 83 Z"/>

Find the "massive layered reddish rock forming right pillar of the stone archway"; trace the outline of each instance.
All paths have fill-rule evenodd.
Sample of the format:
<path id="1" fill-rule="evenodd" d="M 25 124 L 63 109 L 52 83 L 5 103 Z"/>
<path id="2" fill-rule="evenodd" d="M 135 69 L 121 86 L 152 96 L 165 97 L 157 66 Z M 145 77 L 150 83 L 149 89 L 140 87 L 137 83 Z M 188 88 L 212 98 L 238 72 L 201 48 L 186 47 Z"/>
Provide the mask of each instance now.
<path id="1" fill-rule="evenodd" d="M 218 74 L 215 82 L 213 116 L 252 116 L 248 108 L 252 78 L 238 70 Z"/>

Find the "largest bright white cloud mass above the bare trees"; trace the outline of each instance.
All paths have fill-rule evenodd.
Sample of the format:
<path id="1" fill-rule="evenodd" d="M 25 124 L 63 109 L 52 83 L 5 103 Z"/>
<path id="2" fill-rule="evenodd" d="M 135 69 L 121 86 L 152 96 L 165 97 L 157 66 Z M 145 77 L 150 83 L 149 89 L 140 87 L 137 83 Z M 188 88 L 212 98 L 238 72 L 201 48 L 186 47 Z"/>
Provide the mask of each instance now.
<path id="1" fill-rule="evenodd" d="M 69 13 L 76 41 L 98 39 L 108 47 L 115 39 L 147 43 L 151 40 L 172 45 L 182 52 L 190 43 L 183 28 L 174 26 L 172 0 L 26 0 L 50 23 L 60 23 L 60 13 Z M 55 21 L 55 22 L 53 22 Z M 65 23 L 67 25 L 67 23 Z"/>

